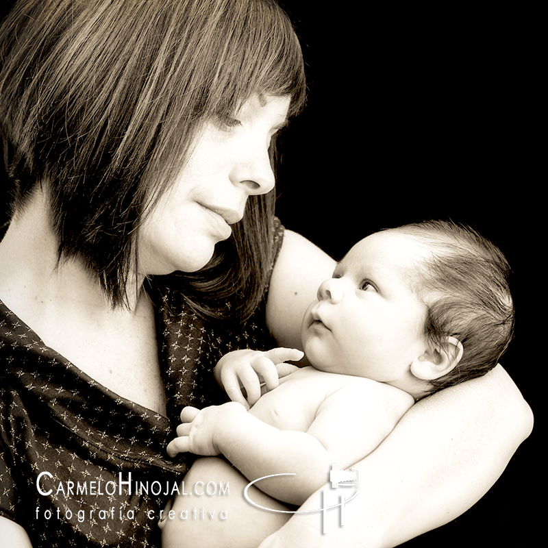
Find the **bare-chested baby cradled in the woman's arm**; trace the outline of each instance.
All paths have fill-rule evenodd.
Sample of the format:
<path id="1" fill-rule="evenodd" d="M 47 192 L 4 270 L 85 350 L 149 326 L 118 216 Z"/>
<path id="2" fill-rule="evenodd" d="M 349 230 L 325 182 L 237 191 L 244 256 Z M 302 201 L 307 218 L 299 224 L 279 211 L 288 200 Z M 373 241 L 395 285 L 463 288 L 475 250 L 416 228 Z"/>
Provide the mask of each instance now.
<path id="1" fill-rule="evenodd" d="M 259 486 L 300 505 L 327 482 L 332 464 L 346 469 L 371 453 L 415 401 L 497 364 L 514 325 L 509 272 L 497 247 L 449 222 L 364 238 L 306 311 L 301 336 L 312 366 L 288 375 L 292 366 L 277 367 L 301 358 L 295 349 L 228 353 L 215 375 L 234 401 L 184 408 L 169 455 L 222 454 L 244 476 L 243 486 L 293 473 Z M 279 379 L 278 371 L 286 376 Z M 225 482 L 237 474 L 216 460 L 226 466 Z M 232 475 L 230 482 L 232 488 Z M 164 525 L 164 535 L 168 527 L 173 535 L 175 523 Z"/>

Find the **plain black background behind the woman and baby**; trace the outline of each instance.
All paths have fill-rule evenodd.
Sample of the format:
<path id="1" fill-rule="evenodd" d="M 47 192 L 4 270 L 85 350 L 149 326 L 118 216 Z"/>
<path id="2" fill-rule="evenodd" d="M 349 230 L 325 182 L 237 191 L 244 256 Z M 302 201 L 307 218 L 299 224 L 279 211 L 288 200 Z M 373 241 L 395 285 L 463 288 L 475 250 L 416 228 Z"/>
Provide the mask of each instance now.
<path id="1" fill-rule="evenodd" d="M 501 362 L 536 427 L 469 512 L 405 546 L 534 546 L 543 497 L 536 492 L 545 485 L 538 457 L 545 360 L 534 326 L 546 304 L 538 275 L 545 177 L 533 168 L 536 16 L 499 7 L 381 12 L 358 2 L 280 3 L 301 40 L 309 82 L 306 110 L 280 137 L 284 225 L 340 259 L 382 227 L 453 219 L 493 240 L 514 271 L 516 336 Z"/>

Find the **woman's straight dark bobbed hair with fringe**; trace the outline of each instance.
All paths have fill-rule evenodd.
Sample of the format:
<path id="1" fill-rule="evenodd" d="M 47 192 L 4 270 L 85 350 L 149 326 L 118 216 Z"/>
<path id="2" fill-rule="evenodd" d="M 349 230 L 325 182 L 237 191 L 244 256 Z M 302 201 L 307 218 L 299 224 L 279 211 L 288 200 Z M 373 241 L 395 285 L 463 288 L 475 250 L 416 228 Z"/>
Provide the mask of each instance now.
<path id="1" fill-rule="evenodd" d="M 290 97 L 288 116 L 304 101 L 299 41 L 274 0 L 26 0 L 0 33 L 12 215 L 43 185 L 60 260 L 82 257 L 113 306 L 126 301 L 142 221 L 203 123 L 233 118 L 256 94 Z M 232 316 L 256 308 L 274 200 L 249 197 L 232 238 L 183 277 L 201 314 L 222 315 L 212 295 L 242 295 Z"/>

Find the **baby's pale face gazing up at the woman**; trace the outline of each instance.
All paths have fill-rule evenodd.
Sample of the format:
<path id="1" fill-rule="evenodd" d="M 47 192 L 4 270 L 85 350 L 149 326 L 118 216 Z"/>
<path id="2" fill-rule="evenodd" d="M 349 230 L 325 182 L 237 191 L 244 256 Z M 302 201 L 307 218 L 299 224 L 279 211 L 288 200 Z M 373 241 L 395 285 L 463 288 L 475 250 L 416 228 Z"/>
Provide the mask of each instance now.
<path id="1" fill-rule="evenodd" d="M 427 308 L 410 279 L 425 253 L 396 232 L 372 234 L 347 253 L 303 319 L 304 349 L 316 369 L 380 382 L 409 374 L 426 349 Z"/>

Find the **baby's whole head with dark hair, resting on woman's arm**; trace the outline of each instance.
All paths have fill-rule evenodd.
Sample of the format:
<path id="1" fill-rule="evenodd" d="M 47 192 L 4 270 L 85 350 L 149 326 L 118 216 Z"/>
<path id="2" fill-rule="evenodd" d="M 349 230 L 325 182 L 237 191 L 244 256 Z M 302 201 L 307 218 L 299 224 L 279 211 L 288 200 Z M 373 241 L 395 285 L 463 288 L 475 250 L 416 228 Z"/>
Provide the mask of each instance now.
<path id="1" fill-rule="evenodd" d="M 358 242 L 318 290 L 302 338 L 316 369 L 420 398 L 497 364 L 512 338 L 510 268 L 468 227 L 429 221 Z"/>

